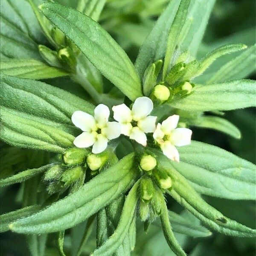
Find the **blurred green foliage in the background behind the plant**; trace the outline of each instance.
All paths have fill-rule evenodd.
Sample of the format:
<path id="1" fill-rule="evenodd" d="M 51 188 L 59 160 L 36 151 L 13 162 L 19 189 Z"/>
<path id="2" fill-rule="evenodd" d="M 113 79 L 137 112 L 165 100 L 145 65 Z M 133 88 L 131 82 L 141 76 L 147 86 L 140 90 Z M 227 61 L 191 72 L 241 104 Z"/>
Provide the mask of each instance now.
<path id="1" fill-rule="evenodd" d="M 75 0 L 58 0 L 58 2 L 76 7 Z M 108 0 L 102 12 L 99 23 L 115 38 L 115 40 L 125 49 L 129 57 L 134 61 L 139 47 L 142 45 L 148 32 L 154 25 L 154 21 L 165 8 L 168 0 Z M 201 57 L 210 50 L 226 43 L 255 44 L 255 0 L 217 0 L 210 17 L 204 40 L 199 48 L 198 57 Z M 225 55 L 222 58 L 233 58 L 236 54 Z M 224 61 L 224 60 L 223 60 Z M 221 59 L 220 62 L 221 63 Z M 218 67 L 215 67 L 216 69 Z M 253 73 L 249 77 L 256 79 Z M 105 80 L 104 80 L 105 81 Z M 108 81 L 105 81 L 106 83 Z M 67 77 L 61 79 L 50 79 L 47 83 L 62 87 L 65 90 L 87 98 L 84 90 Z M 72 83 L 72 86 L 70 86 Z M 67 85 L 67 86 L 65 86 Z M 241 140 L 236 140 L 208 129 L 193 128 L 193 140 L 217 145 L 227 151 L 256 163 L 256 109 L 240 109 L 228 111 L 225 117 L 234 123 L 241 131 Z M 5 163 L 4 159 L 12 159 Z M 1 178 L 11 175 L 27 168 L 36 168 L 49 161 L 49 154 L 21 150 L 9 147 L 1 143 Z M 209 181 L 210 182 L 210 181 Z M 1 189 L 1 213 L 18 209 L 24 205 L 21 202 L 22 195 L 35 195 L 38 190 L 38 180 L 35 180 L 34 187 L 30 191 L 23 191 L 23 186 L 14 185 Z M 226 199 L 211 198 L 204 196 L 204 199 L 224 215 L 239 221 L 249 227 L 256 227 L 256 207 L 253 201 L 231 201 Z M 30 199 L 31 200 L 31 199 Z M 33 200 L 36 200 L 35 198 Z M 172 198 L 167 198 L 169 209 L 180 213 L 183 211 Z M 23 204 L 23 205 L 22 205 Z M 25 203 L 26 204 L 26 203 Z M 28 204 L 28 203 L 27 203 Z M 187 214 L 186 212 L 184 214 Z M 192 220 L 195 221 L 195 220 Z M 77 227 L 67 232 L 64 242 L 64 250 L 67 255 L 76 255 L 80 243 L 81 234 L 86 227 L 86 223 L 81 223 Z M 96 234 L 93 232 L 87 244 L 84 246 L 84 255 L 96 247 Z M 180 245 L 190 256 L 254 256 L 256 255 L 256 245 L 254 239 L 236 238 L 213 233 L 206 238 L 191 238 L 182 234 L 176 234 Z M 28 248 L 26 239 L 34 248 Z M 45 255 L 55 256 L 58 251 L 55 249 L 54 234 L 48 236 L 47 241 L 44 235 L 29 236 L 17 235 L 14 233 L 2 233 L 0 239 L 0 255 L 42 255 L 44 243 L 47 243 Z M 72 246 L 71 246 L 72 245 Z M 33 246 L 32 246 L 33 247 Z M 30 253 L 29 253 L 30 252 Z M 172 256 L 174 255 L 164 237 L 160 227 L 152 225 L 147 234 L 143 232 L 143 225 L 138 223 L 137 242 L 133 252 L 134 256 Z"/>

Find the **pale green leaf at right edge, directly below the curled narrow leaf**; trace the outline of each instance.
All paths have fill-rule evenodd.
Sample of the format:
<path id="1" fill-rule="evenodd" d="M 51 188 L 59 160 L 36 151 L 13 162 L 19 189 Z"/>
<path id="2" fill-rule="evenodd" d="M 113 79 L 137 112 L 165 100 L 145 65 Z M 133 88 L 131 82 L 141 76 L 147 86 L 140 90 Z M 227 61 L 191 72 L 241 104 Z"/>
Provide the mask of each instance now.
<path id="1" fill-rule="evenodd" d="M 212 74 L 207 83 L 246 78 L 255 71 L 255 62 L 256 44 L 224 64 L 217 72 Z"/>

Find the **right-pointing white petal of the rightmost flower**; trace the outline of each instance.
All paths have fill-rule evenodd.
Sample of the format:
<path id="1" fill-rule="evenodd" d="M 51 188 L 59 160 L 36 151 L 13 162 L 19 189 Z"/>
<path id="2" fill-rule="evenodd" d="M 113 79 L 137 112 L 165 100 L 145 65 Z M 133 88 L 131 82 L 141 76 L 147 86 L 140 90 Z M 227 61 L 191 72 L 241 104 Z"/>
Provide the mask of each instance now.
<path id="1" fill-rule="evenodd" d="M 185 146 L 191 143 L 192 131 L 188 128 L 176 128 L 168 138 L 175 146 Z"/>

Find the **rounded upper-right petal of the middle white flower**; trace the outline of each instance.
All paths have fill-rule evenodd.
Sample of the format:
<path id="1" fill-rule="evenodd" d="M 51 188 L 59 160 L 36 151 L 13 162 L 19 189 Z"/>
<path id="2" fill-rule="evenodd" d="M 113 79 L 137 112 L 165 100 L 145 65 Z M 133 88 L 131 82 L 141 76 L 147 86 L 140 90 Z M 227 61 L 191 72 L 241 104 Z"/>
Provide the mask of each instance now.
<path id="1" fill-rule="evenodd" d="M 153 102 L 148 97 L 139 97 L 135 100 L 132 106 L 132 116 L 135 121 L 148 116 L 153 110 Z"/>

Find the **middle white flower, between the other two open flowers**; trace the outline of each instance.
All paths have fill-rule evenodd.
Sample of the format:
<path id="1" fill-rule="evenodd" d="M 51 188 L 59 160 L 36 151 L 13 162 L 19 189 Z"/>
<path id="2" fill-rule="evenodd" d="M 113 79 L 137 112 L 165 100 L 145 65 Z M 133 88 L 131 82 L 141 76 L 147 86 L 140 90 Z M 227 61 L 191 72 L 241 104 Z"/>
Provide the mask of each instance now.
<path id="1" fill-rule="evenodd" d="M 151 99 L 139 97 L 131 110 L 125 104 L 113 106 L 112 110 L 114 119 L 121 124 L 121 133 L 143 146 L 147 145 L 145 133 L 154 132 L 157 120 L 157 116 L 148 116 L 153 110 Z"/>

